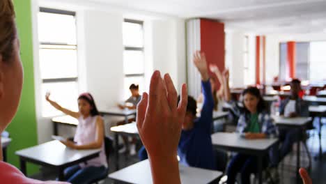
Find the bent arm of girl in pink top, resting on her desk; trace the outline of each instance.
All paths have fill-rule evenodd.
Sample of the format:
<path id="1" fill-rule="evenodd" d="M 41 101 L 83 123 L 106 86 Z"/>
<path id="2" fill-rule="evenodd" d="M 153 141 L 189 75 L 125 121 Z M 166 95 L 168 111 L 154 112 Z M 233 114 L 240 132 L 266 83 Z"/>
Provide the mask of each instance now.
<path id="1" fill-rule="evenodd" d="M 84 145 L 77 145 L 73 143 L 72 141 L 61 141 L 65 146 L 68 146 L 70 148 L 74 149 L 98 149 L 101 148 L 103 141 L 104 141 L 104 122 L 103 119 L 98 116 L 96 118 L 96 140 L 90 144 L 84 144 Z"/>

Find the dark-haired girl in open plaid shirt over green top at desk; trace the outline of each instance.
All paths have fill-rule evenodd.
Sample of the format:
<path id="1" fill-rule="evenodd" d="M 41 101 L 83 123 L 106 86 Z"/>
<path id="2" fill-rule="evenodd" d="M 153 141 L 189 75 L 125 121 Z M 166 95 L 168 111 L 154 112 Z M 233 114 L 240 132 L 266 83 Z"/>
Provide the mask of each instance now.
<path id="1" fill-rule="evenodd" d="M 231 93 L 228 87 L 228 71 L 224 72 L 226 100 L 230 101 Z M 244 109 L 240 112 L 237 132 L 244 134 L 245 139 L 264 139 L 276 137 L 277 128 L 272 123 L 272 118 L 265 109 L 265 102 L 256 87 L 249 87 L 242 92 Z M 235 102 L 230 102 L 235 108 Z M 276 160 L 274 152 L 270 152 L 270 161 Z M 266 155 L 263 167 L 267 167 L 268 155 Z M 238 172 L 241 173 L 241 183 L 250 183 L 250 175 L 257 172 L 258 160 L 254 156 L 239 153 L 235 155 L 228 165 L 227 183 L 235 183 Z"/>

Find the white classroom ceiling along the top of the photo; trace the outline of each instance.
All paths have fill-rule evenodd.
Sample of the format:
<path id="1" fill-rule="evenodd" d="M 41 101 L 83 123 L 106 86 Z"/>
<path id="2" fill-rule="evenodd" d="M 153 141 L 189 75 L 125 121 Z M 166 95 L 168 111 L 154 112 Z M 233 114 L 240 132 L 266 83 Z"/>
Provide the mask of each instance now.
<path id="1" fill-rule="evenodd" d="M 81 0 L 79 0 L 81 1 Z M 183 18 L 206 17 L 228 29 L 262 33 L 326 31 L 326 0 L 82 0 Z"/>

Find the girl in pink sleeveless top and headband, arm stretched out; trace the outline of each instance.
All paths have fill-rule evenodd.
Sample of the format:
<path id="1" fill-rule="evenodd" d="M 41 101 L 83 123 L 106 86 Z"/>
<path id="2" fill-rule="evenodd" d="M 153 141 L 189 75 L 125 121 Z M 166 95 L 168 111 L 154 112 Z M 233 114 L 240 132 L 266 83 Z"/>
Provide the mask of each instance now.
<path id="1" fill-rule="evenodd" d="M 65 169 L 66 180 L 70 183 L 89 183 L 100 178 L 104 172 L 107 172 L 108 165 L 104 151 L 104 122 L 96 108 L 93 96 L 90 93 L 81 93 L 78 98 L 79 112 L 72 112 L 50 100 L 49 95 L 47 93 L 45 98 L 54 108 L 79 121 L 74 137 L 75 142 L 69 140 L 61 142 L 73 149 L 101 148 L 98 158 Z"/>

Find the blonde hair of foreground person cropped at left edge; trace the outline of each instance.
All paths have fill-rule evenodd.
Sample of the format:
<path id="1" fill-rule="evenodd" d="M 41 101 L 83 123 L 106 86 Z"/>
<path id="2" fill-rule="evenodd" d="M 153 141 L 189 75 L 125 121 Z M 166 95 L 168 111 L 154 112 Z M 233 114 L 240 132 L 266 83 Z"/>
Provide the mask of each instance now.
<path id="1" fill-rule="evenodd" d="M 12 0 L 0 1 L 0 54 L 3 61 L 10 61 L 13 56 L 13 42 L 17 30 L 15 25 L 15 10 Z"/>

